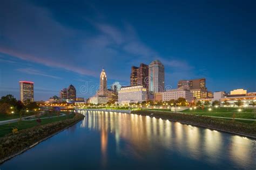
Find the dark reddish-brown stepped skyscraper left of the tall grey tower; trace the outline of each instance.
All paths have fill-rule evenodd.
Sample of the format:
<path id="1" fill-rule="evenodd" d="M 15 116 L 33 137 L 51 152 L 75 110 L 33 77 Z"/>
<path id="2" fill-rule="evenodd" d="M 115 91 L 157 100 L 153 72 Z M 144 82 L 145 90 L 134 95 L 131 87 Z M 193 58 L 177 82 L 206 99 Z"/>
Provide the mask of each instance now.
<path id="1" fill-rule="evenodd" d="M 131 70 L 131 86 L 148 86 L 147 77 L 149 76 L 149 66 L 140 63 L 139 67 L 132 66 Z"/>

